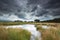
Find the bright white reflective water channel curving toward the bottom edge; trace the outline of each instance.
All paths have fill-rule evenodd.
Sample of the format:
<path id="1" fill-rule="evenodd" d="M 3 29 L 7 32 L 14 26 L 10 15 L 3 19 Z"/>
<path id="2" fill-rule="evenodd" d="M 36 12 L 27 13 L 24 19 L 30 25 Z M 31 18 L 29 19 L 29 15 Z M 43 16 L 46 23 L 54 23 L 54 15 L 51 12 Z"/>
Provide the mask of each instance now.
<path id="1" fill-rule="evenodd" d="M 41 32 L 36 30 L 35 25 L 25 24 L 25 25 L 15 25 L 15 26 L 7 26 L 6 28 L 22 28 L 31 32 L 30 40 L 41 40 Z"/>

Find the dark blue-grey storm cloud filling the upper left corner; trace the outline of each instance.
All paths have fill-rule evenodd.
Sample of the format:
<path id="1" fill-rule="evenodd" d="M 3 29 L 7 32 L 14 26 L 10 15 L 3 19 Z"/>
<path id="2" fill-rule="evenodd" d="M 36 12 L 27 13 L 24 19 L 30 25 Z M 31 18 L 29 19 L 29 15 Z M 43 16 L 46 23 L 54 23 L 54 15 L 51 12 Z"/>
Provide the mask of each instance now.
<path id="1" fill-rule="evenodd" d="M 20 7 L 15 0 L 0 0 L 0 14 L 20 11 Z"/>

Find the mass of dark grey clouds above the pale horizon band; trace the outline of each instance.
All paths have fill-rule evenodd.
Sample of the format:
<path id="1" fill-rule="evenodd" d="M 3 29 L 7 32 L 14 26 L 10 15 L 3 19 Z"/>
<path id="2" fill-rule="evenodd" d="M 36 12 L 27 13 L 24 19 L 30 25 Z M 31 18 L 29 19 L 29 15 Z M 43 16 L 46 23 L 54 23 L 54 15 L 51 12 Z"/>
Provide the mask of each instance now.
<path id="1" fill-rule="evenodd" d="M 39 5 L 39 6 L 38 6 Z M 25 18 L 26 14 L 40 16 L 60 16 L 60 0 L 0 0 L 0 16 L 16 15 Z"/>

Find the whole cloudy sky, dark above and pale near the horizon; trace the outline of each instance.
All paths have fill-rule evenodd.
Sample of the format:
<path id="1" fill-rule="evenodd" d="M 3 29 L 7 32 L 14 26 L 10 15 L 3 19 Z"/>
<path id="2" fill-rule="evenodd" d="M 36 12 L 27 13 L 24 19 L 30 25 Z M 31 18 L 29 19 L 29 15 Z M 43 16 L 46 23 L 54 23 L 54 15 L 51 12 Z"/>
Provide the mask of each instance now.
<path id="1" fill-rule="evenodd" d="M 60 0 L 0 0 L 0 20 L 41 21 L 60 18 Z"/>

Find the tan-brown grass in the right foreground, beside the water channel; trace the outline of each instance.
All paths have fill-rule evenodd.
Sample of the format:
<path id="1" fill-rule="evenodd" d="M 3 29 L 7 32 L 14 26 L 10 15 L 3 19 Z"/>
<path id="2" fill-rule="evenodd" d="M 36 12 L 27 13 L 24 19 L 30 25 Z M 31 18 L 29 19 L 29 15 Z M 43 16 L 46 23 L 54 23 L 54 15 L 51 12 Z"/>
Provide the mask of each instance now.
<path id="1" fill-rule="evenodd" d="M 56 24 L 55 24 L 56 25 Z M 57 24 L 58 25 L 58 24 Z M 60 26 L 50 26 L 50 29 L 43 29 L 42 25 L 36 25 L 37 30 L 41 32 L 42 40 L 60 40 Z"/>

